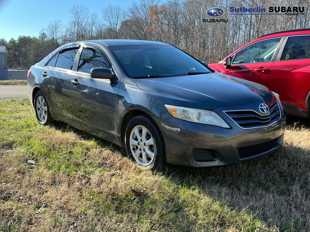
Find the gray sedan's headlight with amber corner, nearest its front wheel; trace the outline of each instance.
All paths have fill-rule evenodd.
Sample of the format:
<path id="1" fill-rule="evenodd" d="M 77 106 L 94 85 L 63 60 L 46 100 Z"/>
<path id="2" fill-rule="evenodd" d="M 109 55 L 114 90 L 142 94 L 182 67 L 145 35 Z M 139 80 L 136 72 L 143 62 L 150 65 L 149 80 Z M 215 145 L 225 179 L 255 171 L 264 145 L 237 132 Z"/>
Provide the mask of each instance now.
<path id="1" fill-rule="evenodd" d="M 165 107 L 175 118 L 189 122 L 197 122 L 201 124 L 230 128 L 230 126 L 224 121 L 223 118 L 221 118 L 221 116 L 211 110 L 200 110 L 175 105 L 165 105 Z"/>

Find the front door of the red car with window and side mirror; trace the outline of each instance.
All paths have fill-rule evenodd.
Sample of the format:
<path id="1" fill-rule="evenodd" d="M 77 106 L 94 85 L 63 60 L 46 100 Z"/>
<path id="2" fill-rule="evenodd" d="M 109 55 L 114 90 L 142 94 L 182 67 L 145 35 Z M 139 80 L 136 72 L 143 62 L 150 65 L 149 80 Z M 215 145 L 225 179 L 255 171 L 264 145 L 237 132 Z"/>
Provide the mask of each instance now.
<path id="1" fill-rule="evenodd" d="M 281 37 L 252 43 L 235 53 L 231 67 L 219 66 L 219 72 L 240 77 L 268 87 L 270 69 L 275 61 L 275 51 Z"/>

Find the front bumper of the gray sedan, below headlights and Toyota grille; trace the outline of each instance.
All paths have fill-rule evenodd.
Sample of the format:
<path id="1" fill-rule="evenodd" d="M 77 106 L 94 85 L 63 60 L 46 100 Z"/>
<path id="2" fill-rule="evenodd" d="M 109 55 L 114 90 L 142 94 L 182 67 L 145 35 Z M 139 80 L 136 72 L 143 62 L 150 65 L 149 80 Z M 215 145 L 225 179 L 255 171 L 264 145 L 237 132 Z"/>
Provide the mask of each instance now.
<path id="1" fill-rule="evenodd" d="M 222 109 L 219 109 L 220 112 Z M 166 146 L 166 161 L 171 164 L 208 167 L 239 164 L 273 153 L 283 144 L 286 128 L 286 112 L 281 118 L 268 127 L 242 129 L 230 118 L 219 113 L 231 126 L 226 129 L 179 120 L 177 118 L 154 118 L 162 131 Z M 246 157 L 239 157 L 238 148 L 264 144 L 276 140 L 272 147 L 263 152 Z M 212 161 L 197 162 L 193 157 L 193 149 L 208 149 L 214 157 Z"/>

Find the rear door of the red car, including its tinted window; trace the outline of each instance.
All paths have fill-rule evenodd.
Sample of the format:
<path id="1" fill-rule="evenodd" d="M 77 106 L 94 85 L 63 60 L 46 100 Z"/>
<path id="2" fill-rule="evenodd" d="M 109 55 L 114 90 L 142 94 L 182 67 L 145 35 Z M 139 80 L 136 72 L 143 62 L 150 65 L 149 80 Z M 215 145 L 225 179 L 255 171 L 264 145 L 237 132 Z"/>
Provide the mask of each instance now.
<path id="1" fill-rule="evenodd" d="M 310 91 L 310 36 L 286 37 L 283 52 L 272 64 L 269 88 L 277 92 L 282 103 L 307 110 Z"/>

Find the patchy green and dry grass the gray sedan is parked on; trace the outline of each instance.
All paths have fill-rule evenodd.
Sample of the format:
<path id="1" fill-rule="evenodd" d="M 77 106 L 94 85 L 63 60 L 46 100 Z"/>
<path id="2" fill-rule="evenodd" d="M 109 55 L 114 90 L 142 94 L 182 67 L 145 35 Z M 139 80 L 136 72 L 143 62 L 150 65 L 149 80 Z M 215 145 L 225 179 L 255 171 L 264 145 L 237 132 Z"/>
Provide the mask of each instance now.
<path id="1" fill-rule="evenodd" d="M 140 170 L 117 146 L 0 101 L 0 231 L 310 231 L 310 130 L 242 165 Z"/>

